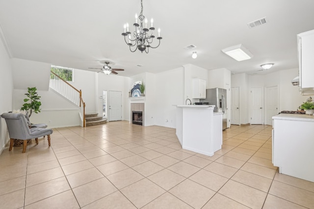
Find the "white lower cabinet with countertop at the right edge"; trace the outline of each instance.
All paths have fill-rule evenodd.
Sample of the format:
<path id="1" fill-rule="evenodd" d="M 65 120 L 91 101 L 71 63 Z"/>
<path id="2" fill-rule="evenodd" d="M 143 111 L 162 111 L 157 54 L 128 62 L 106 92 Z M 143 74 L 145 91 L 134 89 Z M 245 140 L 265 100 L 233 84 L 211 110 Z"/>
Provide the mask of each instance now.
<path id="1" fill-rule="evenodd" d="M 314 116 L 273 116 L 272 162 L 279 173 L 314 182 Z"/>

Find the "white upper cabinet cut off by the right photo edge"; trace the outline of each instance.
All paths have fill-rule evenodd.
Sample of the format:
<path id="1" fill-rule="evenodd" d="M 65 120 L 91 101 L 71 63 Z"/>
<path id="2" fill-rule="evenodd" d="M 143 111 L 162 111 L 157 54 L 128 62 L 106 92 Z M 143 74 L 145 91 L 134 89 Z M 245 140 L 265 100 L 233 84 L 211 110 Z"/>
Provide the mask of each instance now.
<path id="1" fill-rule="evenodd" d="M 314 87 L 314 30 L 297 35 L 300 87 Z"/>

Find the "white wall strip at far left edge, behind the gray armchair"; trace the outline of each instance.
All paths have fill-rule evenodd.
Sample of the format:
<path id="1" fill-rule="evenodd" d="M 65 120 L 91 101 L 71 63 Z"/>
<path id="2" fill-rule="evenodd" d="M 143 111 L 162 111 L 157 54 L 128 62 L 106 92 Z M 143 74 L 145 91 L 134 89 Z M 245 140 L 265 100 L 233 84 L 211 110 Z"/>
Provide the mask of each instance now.
<path id="1" fill-rule="evenodd" d="M 1 38 L 1 37 L 0 37 Z M 13 108 L 13 77 L 10 58 L 0 39 L 0 114 L 12 111 Z M 9 141 L 9 133 L 5 120 L 0 117 L 0 154 Z"/>

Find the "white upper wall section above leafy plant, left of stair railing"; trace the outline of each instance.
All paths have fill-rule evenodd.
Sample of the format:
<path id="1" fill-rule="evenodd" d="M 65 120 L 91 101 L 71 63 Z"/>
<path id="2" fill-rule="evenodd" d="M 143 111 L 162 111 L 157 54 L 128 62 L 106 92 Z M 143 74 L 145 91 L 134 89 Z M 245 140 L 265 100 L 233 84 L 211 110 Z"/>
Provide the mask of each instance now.
<path id="1" fill-rule="evenodd" d="M 12 69 L 14 89 L 36 87 L 48 91 L 51 64 L 13 58 Z"/>

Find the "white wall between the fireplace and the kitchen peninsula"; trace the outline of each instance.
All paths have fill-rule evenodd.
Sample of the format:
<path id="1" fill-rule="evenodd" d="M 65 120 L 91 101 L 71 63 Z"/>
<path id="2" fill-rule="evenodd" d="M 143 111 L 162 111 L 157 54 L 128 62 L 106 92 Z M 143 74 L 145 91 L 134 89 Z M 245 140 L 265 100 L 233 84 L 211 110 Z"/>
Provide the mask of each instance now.
<path id="1" fill-rule="evenodd" d="M 190 79 L 191 83 L 192 80 Z M 183 67 L 156 74 L 155 124 L 176 128 L 176 107 L 184 104 Z M 192 98 L 192 94 L 190 97 Z"/>

